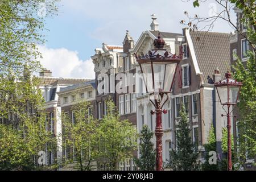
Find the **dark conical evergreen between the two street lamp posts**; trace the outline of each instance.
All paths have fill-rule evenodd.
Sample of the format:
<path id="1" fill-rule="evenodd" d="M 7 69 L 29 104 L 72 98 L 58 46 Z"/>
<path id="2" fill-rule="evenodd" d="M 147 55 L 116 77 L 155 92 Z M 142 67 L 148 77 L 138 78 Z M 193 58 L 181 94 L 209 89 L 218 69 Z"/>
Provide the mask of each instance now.
<path id="1" fill-rule="evenodd" d="M 196 160 L 199 156 L 192 143 L 191 129 L 189 129 L 188 114 L 183 105 L 180 111 L 180 121 L 176 130 L 176 150 L 170 152 L 170 166 L 174 170 L 195 170 Z"/>

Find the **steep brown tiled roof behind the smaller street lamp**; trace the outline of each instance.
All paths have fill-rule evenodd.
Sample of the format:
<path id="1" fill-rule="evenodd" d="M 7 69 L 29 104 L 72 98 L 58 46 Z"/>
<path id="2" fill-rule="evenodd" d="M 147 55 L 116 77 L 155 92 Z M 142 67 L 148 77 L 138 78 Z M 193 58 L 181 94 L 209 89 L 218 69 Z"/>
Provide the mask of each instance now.
<path id="1" fill-rule="evenodd" d="M 230 34 L 219 32 L 189 32 L 204 83 L 213 84 L 212 75 L 218 67 L 221 75 L 230 68 Z"/>

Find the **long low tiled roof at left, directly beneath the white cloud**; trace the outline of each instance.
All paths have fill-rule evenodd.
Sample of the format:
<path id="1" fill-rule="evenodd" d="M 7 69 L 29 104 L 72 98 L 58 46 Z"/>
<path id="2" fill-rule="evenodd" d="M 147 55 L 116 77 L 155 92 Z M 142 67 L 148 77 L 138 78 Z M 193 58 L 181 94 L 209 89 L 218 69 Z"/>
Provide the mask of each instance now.
<path id="1" fill-rule="evenodd" d="M 39 76 L 39 86 L 46 85 L 74 85 L 80 82 L 91 81 L 87 78 L 60 78 L 60 77 L 42 77 Z"/>

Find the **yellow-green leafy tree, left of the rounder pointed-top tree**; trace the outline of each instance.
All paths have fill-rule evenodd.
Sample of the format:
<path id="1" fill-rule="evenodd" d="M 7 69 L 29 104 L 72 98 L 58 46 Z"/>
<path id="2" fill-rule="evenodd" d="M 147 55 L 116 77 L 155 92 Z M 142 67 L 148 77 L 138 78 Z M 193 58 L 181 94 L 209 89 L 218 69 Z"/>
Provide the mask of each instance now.
<path id="1" fill-rule="evenodd" d="M 75 164 L 75 168 L 81 171 L 91 169 L 93 160 L 97 157 L 98 146 L 96 140 L 97 123 L 92 114 L 89 114 L 89 102 L 83 101 L 72 106 L 72 111 L 75 116 L 72 119 L 65 113 L 61 114 L 63 121 L 63 147 L 70 148 L 72 156 L 65 158 L 66 164 Z"/>

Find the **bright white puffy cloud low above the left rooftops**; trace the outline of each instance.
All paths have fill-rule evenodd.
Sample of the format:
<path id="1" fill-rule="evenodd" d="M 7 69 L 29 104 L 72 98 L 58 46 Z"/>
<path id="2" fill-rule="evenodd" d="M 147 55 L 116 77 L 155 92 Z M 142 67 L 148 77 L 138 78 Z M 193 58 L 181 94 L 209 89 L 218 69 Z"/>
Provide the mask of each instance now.
<path id="1" fill-rule="evenodd" d="M 40 60 L 44 68 L 52 71 L 55 77 L 94 78 L 94 64 L 92 60 L 80 60 L 78 52 L 66 48 L 47 48 L 39 46 L 43 59 Z"/>

